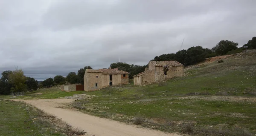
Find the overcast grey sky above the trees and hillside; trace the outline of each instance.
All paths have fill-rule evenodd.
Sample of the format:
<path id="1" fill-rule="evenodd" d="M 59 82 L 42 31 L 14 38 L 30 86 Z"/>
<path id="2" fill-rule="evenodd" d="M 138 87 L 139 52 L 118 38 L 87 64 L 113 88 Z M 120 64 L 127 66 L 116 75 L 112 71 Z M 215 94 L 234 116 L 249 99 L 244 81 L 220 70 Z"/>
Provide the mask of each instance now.
<path id="1" fill-rule="evenodd" d="M 161 54 L 256 35 L 256 0 L 0 0 L 0 73 L 42 81 L 90 65 L 146 65 Z M 181 43 L 184 39 L 183 45 Z"/>

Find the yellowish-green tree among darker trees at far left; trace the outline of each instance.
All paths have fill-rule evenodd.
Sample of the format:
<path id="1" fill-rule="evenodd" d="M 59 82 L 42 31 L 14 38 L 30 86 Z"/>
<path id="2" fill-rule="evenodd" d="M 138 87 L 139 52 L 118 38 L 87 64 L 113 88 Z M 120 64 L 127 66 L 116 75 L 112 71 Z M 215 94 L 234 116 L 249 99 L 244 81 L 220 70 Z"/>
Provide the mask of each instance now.
<path id="1" fill-rule="evenodd" d="M 9 74 L 9 82 L 13 85 L 11 91 L 14 93 L 26 90 L 26 77 L 21 69 L 16 69 Z"/>

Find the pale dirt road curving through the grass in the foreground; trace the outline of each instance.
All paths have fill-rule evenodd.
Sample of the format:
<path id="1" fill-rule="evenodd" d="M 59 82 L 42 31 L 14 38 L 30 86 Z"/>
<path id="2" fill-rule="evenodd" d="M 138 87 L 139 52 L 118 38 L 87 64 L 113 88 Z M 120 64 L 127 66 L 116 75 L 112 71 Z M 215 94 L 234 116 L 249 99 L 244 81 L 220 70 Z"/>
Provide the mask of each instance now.
<path id="1" fill-rule="evenodd" d="M 44 110 L 46 113 L 61 118 L 73 127 L 78 127 L 87 132 L 85 136 L 180 136 L 175 133 L 138 128 L 136 125 L 127 125 L 114 120 L 87 115 L 79 111 L 57 108 L 58 106 L 73 102 L 72 99 L 15 99 L 15 101 L 26 102 L 38 109 Z"/>

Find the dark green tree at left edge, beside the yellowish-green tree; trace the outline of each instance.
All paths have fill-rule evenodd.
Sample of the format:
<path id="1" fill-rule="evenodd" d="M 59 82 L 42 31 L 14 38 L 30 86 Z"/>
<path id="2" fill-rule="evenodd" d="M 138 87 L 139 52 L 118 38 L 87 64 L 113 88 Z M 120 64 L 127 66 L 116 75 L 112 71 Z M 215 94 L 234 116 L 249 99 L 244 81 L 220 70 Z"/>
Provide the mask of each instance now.
<path id="1" fill-rule="evenodd" d="M 12 71 L 3 71 L 0 79 L 0 95 L 8 95 L 11 93 L 12 84 L 9 82 L 9 74 Z"/>

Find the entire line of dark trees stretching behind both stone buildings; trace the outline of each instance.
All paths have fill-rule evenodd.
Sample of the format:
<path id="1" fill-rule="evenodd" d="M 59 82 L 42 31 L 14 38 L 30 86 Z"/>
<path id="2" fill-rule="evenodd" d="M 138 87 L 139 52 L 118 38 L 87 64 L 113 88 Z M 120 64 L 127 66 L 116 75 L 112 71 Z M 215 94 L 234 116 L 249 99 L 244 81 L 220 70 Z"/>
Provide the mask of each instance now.
<path id="1" fill-rule="evenodd" d="M 218 44 L 212 49 L 202 48 L 201 46 L 193 46 L 188 48 L 187 50 L 177 51 L 175 54 L 162 54 L 160 56 L 154 57 L 155 61 L 165 61 L 165 60 L 176 60 L 183 65 L 194 65 L 198 62 L 204 61 L 208 57 L 215 57 L 218 55 L 226 55 L 226 54 L 236 54 L 243 50 L 245 50 L 244 46 L 248 46 L 248 49 L 256 48 L 256 37 L 253 37 L 249 40 L 244 46 L 238 48 L 238 43 L 229 41 L 229 40 L 221 40 Z M 148 65 L 134 65 L 127 64 L 125 62 L 116 62 L 111 63 L 111 68 L 119 68 L 119 70 L 129 72 L 129 78 L 133 78 L 134 75 L 139 74 L 145 71 L 145 68 Z M 21 69 L 16 69 L 15 71 L 3 71 L 2 77 L 0 79 L 0 95 L 2 94 L 10 94 L 11 92 L 22 92 L 22 91 L 34 91 L 38 88 L 48 88 L 53 85 L 63 85 L 66 82 L 70 84 L 81 83 L 84 84 L 84 73 L 86 69 L 93 69 L 90 66 L 85 66 L 84 68 L 80 68 L 76 74 L 76 72 L 68 73 L 67 77 L 63 77 L 61 75 L 55 76 L 53 79 L 48 78 L 39 83 L 32 77 L 24 76 L 24 73 Z"/>

